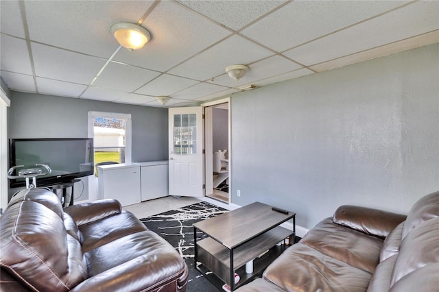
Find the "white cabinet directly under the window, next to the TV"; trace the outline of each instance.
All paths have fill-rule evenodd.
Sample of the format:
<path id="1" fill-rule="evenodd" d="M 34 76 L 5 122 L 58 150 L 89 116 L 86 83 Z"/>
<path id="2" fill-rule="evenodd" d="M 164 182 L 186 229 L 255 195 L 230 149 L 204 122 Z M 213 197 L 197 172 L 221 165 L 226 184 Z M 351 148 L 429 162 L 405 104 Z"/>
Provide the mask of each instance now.
<path id="1" fill-rule="evenodd" d="M 117 199 L 122 206 L 141 202 L 140 165 L 101 165 L 97 171 L 98 199 Z"/>

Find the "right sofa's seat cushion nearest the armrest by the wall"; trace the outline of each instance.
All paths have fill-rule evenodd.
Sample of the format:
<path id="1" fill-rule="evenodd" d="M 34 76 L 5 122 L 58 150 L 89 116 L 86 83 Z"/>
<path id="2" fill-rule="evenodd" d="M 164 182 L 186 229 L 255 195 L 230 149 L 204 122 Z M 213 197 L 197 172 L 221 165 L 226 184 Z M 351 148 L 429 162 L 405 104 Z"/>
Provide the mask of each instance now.
<path id="1" fill-rule="evenodd" d="M 335 224 L 331 218 L 320 221 L 300 242 L 370 273 L 377 267 L 383 247 L 383 239 Z"/>

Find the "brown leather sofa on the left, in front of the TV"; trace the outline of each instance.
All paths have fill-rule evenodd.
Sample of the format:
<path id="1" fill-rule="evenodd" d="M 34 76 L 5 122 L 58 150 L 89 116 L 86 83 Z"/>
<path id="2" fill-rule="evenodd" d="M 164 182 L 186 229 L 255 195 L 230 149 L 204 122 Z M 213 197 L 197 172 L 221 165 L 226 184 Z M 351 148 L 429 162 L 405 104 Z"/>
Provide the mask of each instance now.
<path id="1" fill-rule="evenodd" d="M 45 188 L 0 219 L 1 291 L 185 291 L 187 265 L 114 199 L 62 209 Z"/>

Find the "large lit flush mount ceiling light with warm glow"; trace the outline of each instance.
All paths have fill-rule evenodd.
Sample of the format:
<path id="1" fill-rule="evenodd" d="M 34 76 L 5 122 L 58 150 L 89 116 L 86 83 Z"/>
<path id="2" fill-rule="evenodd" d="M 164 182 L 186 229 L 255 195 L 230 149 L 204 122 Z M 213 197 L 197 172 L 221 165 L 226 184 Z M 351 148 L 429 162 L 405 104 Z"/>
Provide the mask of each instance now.
<path id="1" fill-rule="evenodd" d="M 141 49 L 151 39 L 150 32 L 134 23 L 115 23 L 110 30 L 119 44 L 128 51 Z"/>

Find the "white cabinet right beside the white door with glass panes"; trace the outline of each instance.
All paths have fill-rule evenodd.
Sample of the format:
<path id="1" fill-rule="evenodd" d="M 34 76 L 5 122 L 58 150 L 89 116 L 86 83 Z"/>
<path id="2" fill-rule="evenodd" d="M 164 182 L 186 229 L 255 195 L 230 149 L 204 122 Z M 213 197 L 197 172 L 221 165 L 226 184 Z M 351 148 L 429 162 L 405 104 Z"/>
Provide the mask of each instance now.
<path id="1" fill-rule="evenodd" d="M 156 199 L 169 195 L 168 160 L 137 162 L 141 166 L 141 199 Z"/>

